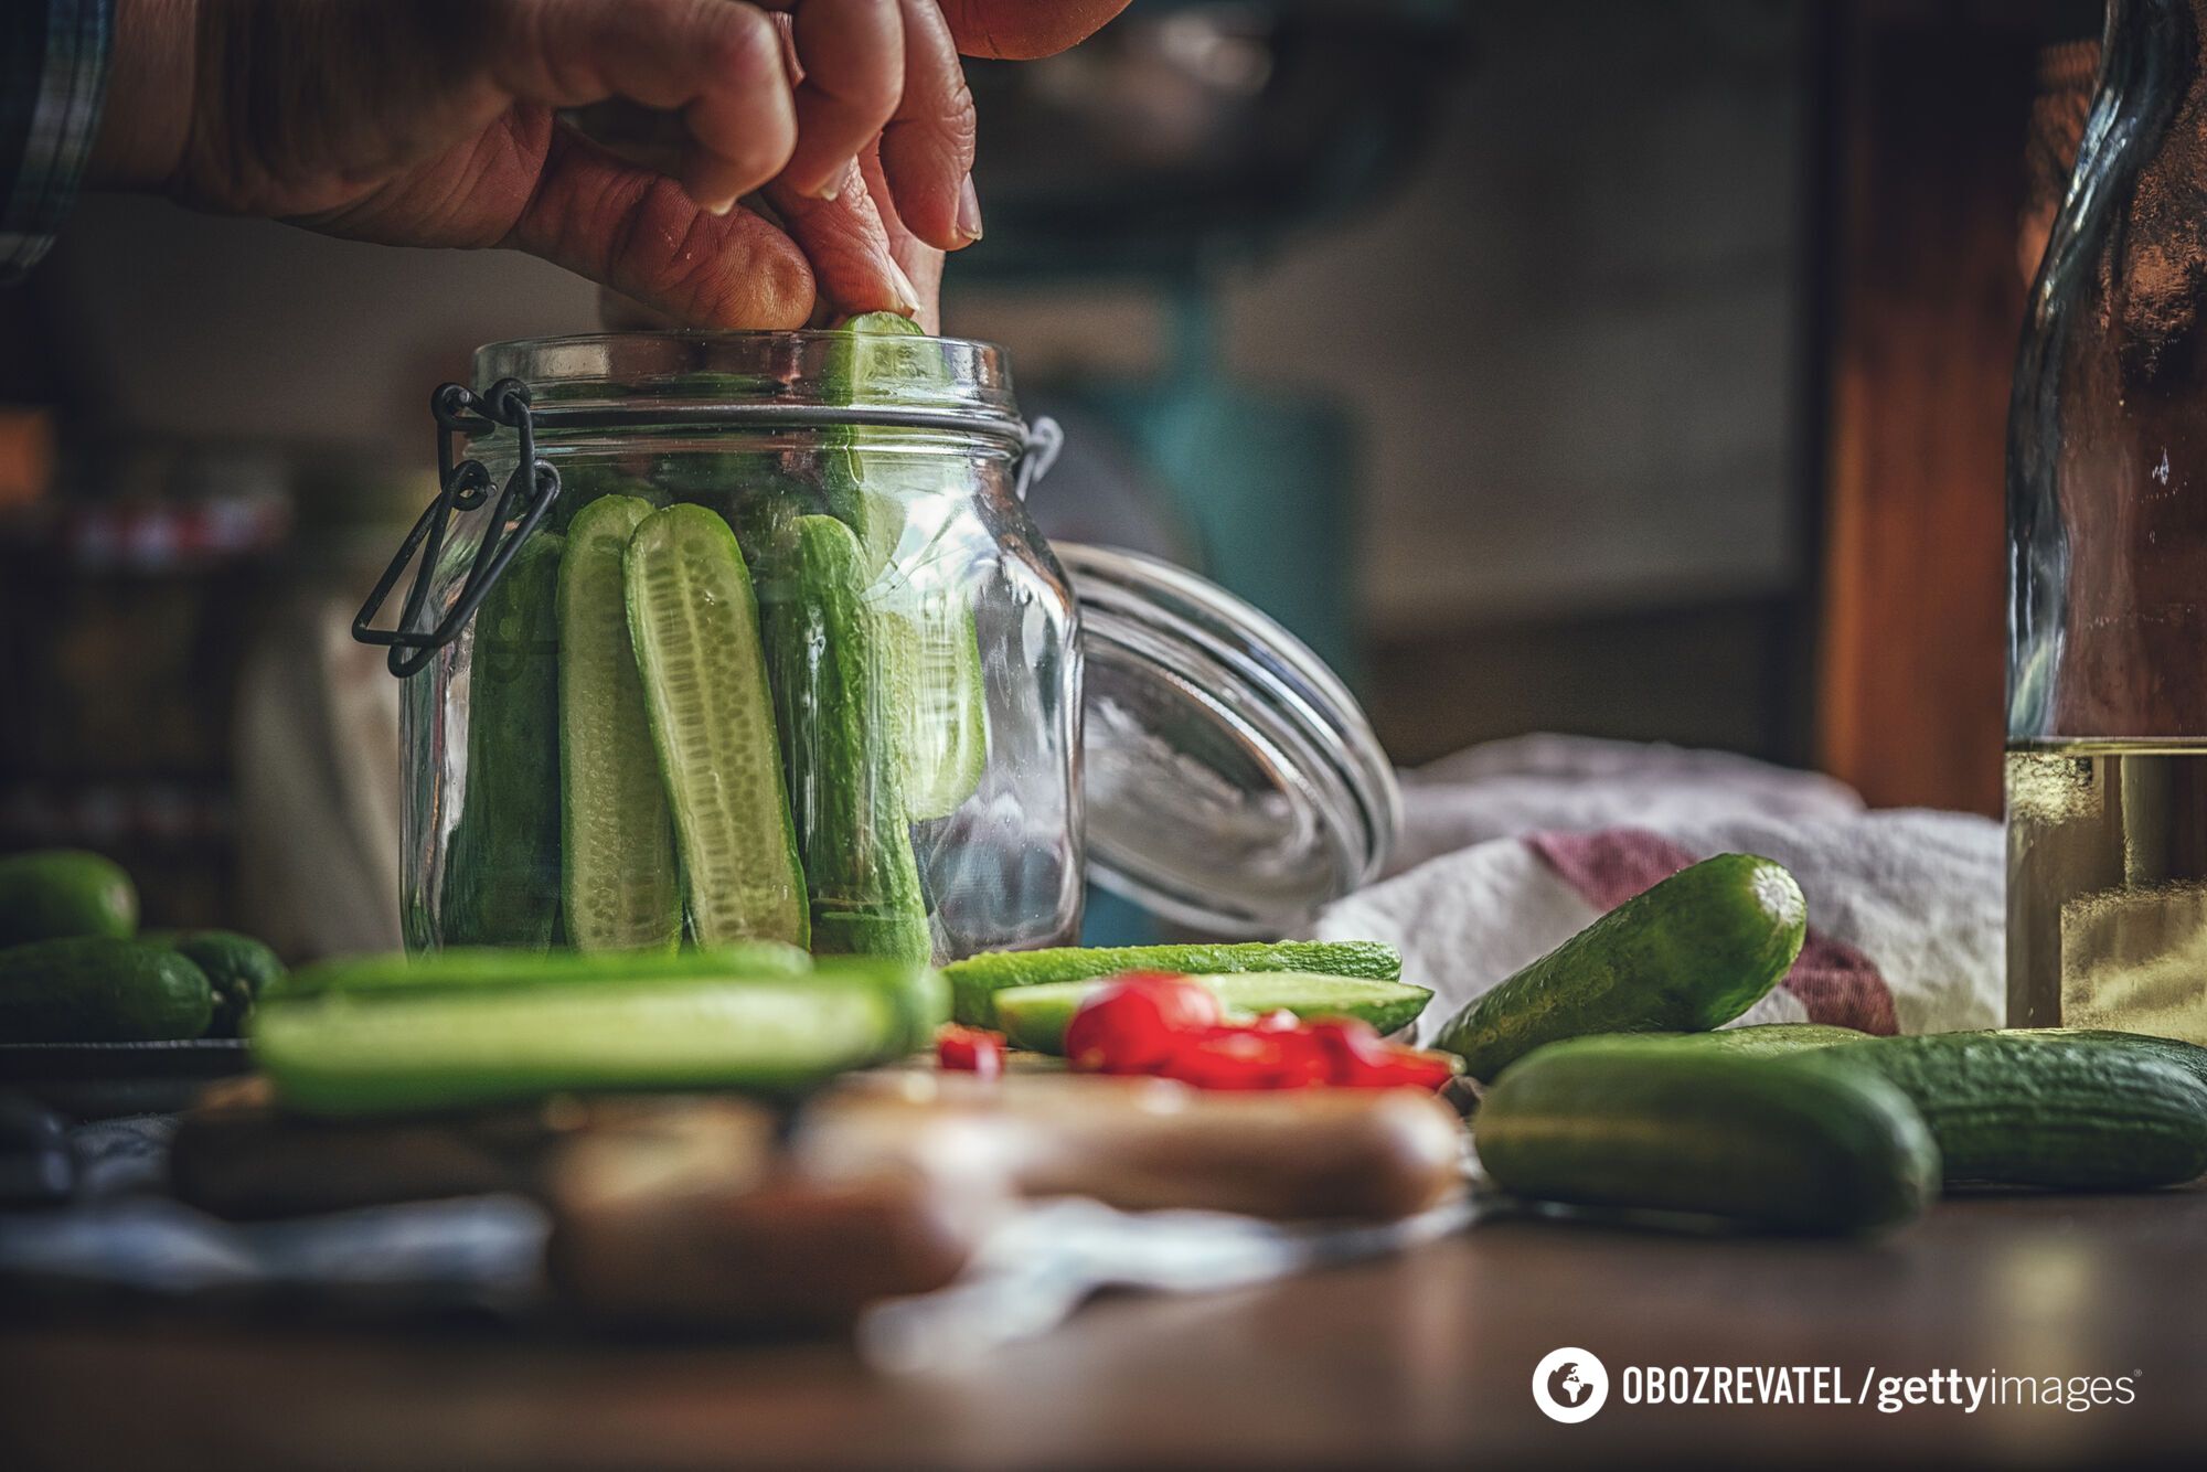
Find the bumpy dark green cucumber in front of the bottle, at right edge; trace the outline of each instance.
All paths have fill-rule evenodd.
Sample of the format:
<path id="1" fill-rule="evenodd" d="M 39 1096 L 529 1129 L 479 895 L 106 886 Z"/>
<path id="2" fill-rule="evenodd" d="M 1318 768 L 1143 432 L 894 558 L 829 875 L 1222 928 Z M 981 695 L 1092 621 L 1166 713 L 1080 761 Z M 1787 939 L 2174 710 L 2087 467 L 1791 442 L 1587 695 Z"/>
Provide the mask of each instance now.
<path id="1" fill-rule="evenodd" d="M 1900 1088 L 1951 1185 L 2125 1192 L 2207 1174 L 2207 1086 L 2158 1057 L 2000 1033 L 1874 1037 L 1814 1057 Z"/>

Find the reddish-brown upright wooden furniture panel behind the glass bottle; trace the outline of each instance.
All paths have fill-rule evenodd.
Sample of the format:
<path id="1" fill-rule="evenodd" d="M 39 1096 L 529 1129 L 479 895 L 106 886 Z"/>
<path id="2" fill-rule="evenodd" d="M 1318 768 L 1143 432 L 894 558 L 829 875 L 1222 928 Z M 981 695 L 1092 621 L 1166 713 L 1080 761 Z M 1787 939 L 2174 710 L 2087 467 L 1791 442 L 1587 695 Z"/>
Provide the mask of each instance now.
<path id="1" fill-rule="evenodd" d="M 1856 0 L 1834 38 L 1816 761 L 1876 806 L 2000 812 L 2026 141 L 2079 24 Z"/>

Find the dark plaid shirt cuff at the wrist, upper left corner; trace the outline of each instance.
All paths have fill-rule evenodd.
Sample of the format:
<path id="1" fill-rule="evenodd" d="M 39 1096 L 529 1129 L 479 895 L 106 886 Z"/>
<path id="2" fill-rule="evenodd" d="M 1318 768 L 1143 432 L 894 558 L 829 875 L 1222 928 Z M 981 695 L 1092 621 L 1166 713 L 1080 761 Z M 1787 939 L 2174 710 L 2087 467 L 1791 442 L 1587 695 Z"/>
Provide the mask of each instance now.
<path id="1" fill-rule="evenodd" d="M 115 0 L 0 2 L 0 282 L 53 245 L 108 84 Z"/>

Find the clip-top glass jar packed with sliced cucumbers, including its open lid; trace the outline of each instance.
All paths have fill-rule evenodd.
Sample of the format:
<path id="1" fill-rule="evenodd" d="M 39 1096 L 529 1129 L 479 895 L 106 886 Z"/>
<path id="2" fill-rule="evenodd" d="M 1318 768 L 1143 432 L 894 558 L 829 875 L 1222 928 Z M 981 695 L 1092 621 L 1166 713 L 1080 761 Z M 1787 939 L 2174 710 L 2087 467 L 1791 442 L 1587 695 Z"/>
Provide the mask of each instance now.
<path id="1" fill-rule="evenodd" d="M 1384 861 L 1393 772 L 1309 649 L 1044 543 L 1055 426 L 1000 349 L 616 333 L 486 346 L 475 382 L 355 625 L 411 675 L 411 949 L 1068 945 L 1090 854 L 1181 922 L 1280 934 Z"/>

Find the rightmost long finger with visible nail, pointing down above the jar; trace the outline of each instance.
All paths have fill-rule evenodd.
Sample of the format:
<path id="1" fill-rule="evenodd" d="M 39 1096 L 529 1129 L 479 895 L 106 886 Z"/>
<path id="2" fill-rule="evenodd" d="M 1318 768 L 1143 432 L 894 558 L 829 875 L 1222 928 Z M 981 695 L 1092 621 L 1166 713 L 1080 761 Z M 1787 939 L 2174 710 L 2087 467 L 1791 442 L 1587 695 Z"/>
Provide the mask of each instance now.
<path id="1" fill-rule="evenodd" d="M 980 238 L 973 192 L 973 93 L 936 0 L 903 0 L 905 93 L 881 135 L 878 168 L 903 225 L 940 249 Z"/>

